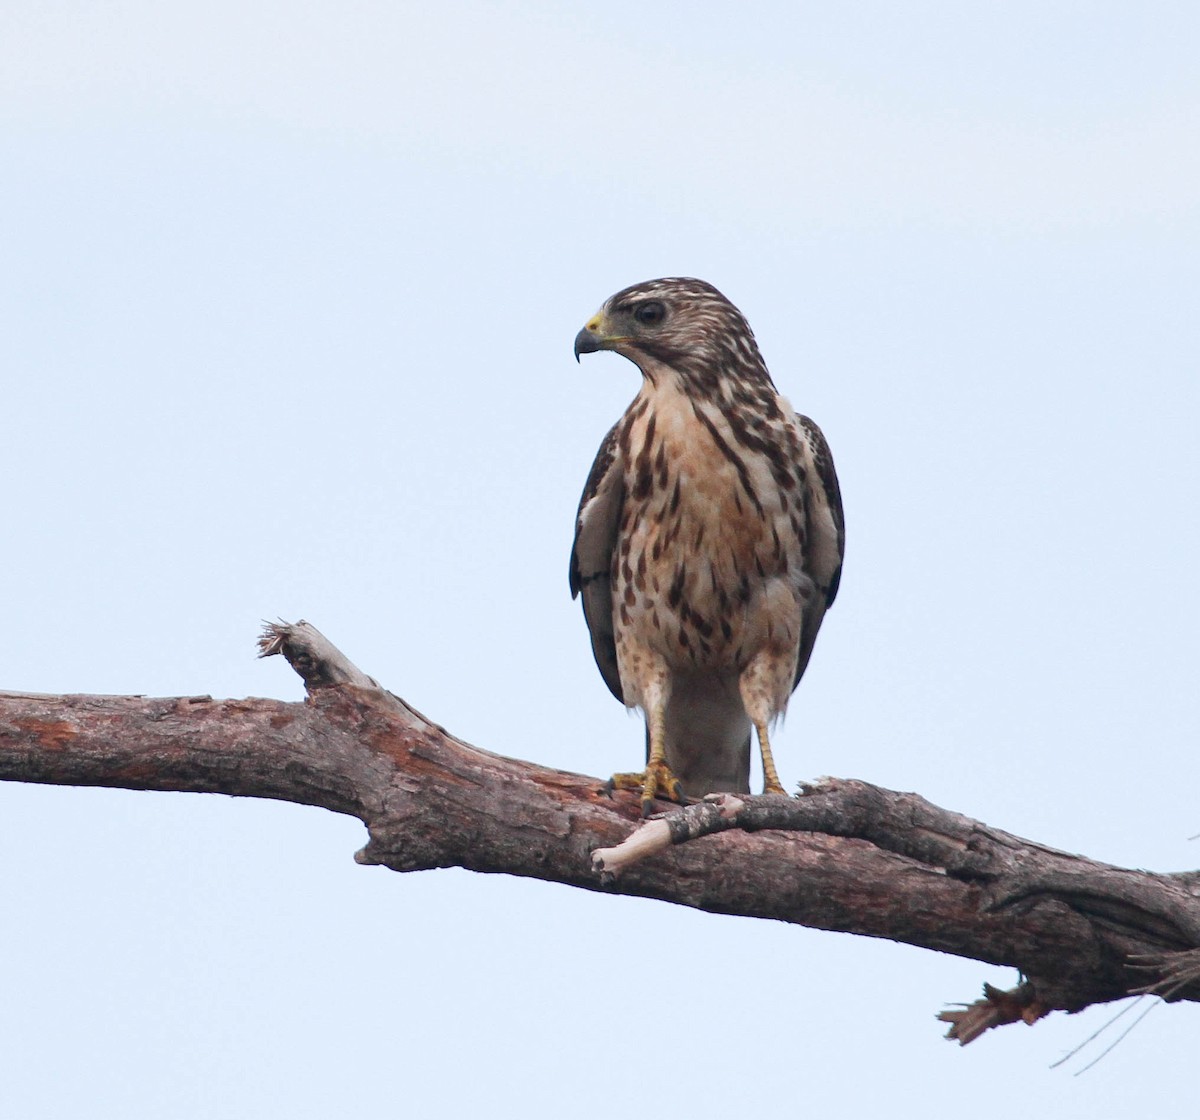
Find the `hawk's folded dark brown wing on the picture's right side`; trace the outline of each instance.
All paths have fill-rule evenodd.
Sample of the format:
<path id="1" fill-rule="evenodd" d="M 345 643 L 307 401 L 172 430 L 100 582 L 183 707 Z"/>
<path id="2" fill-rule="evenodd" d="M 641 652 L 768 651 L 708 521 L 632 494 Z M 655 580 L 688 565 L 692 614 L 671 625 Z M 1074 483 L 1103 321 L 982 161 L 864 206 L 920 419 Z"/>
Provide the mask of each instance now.
<path id="1" fill-rule="evenodd" d="M 800 430 L 802 454 L 808 460 L 805 463 L 808 537 L 804 567 L 817 585 L 820 597 L 809 605 L 804 618 L 792 688 L 800 683 L 800 677 L 804 676 L 809 658 L 812 655 L 812 646 L 817 640 L 824 612 L 833 606 L 833 600 L 838 597 L 841 562 L 846 553 L 846 519 L 841 509 L 841 487 L 838 485 L 838 473 L 833 468 L 829 444 L 821 429 L 808 417 L 797 414 L 796 421 Z"/>

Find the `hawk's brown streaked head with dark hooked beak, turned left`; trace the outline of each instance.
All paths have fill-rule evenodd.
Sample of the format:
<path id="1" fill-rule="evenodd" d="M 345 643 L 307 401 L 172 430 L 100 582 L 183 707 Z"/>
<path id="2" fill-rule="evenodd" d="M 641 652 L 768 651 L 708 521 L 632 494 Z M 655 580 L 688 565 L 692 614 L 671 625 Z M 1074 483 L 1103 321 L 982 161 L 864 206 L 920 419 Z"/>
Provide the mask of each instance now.
<path id="1" fill-rule="evenodd" d="M 670 276 L 618 292 L 575 336 L 575 357 L 616 351 L 654 378 L 662 366 L 686 382 L 767 381 L 745 316 L 703 280 Z"/>

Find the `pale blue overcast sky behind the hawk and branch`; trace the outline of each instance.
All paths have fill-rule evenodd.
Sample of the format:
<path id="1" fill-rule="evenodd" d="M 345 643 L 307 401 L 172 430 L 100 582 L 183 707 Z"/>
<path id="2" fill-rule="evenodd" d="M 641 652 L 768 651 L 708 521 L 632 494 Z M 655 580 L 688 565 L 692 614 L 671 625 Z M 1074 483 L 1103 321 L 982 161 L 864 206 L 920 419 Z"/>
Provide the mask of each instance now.
<path id="1" fill-rule="evenodd" d="M 470 742 L 632 768 L 566 558 L 638 377 L 571 342 L 695 275 L 842 481 L 785 784 L 1200 866 L 1198 41 L 1153 0 L 8 0 L 0 688 L 299 699 L 254 639 L 305 617 Z M 1057 1070 L 1115 1008 L 960 1050 L 934 1014 L 1012 970 L 364 839 L 0 787 L 0 1114 L 1192 1115 L 1193 1006 L 1075 1078 L 1140 1008 Z"/>

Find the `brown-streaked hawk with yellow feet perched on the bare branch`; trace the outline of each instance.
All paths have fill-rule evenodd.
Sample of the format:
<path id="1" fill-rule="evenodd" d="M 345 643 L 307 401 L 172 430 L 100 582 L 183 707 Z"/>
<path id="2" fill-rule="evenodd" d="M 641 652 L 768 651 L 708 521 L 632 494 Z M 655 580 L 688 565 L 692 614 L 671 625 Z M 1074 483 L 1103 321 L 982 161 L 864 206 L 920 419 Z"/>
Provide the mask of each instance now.
<path id="1" fill-rule="evenodd" d="M 611 297 L 575 357 L 616 351 L 642 388 L 605 437 L 580 499 L 571 597 L 596 665 L 646 715 L 642 773 L 685 802 L 784 787 L 769 726 L 787 707 L 838 594 L 841 495 L 821 430 L 779 395 L 750 325 L 712 285 L 670 277 Z"/>

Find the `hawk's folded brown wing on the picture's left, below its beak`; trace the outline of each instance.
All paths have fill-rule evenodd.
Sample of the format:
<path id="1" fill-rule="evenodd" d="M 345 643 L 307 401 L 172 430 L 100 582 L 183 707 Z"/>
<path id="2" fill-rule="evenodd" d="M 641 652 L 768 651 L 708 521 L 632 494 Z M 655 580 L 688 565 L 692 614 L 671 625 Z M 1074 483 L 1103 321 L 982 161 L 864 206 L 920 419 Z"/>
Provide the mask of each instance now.
<path id="1" fill-rule="evenodd" d="M 617 639 L 612 627 L 612 555 L 617 545 L 620 507 L 624 502 L 624 467 L 614 424 L 604 437 L 588 474 L 575 517 L 571 547 L 571 598 L 583 593 L 583 618 L 592 634 L 600 676 L 608 690 L 625 702 L 617 671 Z"/>

